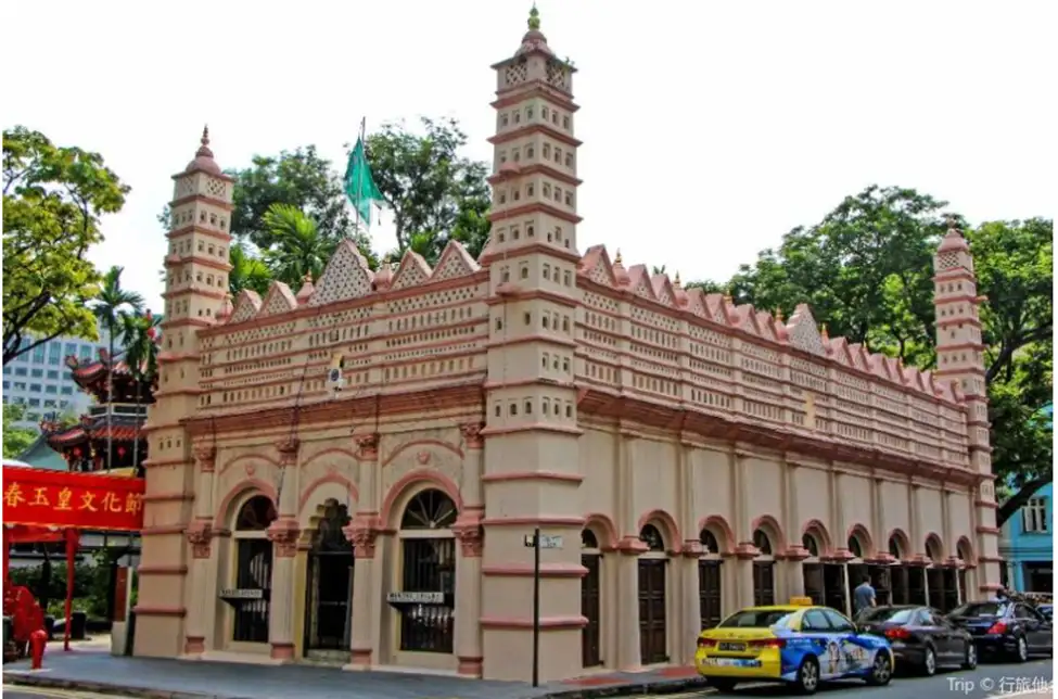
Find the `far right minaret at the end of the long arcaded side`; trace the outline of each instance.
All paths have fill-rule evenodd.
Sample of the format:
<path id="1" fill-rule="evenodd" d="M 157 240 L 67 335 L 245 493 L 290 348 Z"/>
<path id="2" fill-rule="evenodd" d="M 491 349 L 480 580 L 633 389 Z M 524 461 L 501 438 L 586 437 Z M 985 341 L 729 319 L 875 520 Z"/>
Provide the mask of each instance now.
<path id="1" fill-rule="evenodd" d="M 980 481 L 974 495 L 977 522 L 977 590 L 964 590 L 973 599 L 999 584 L 998 531 L 995 528 L 995 486 L 989 439 L 989 398 L 985 386 L 984 344 L 981 342 L 973 256 L 966 238 L 949 224 L 933 256 L 933 306 L 936 316 L 938 378 L 957 383 L 966 399 L 970 468 Z M 954 546 L 954 542 L 949 546 Z M 953 550 L 954 552 L 954 550 Z"/>

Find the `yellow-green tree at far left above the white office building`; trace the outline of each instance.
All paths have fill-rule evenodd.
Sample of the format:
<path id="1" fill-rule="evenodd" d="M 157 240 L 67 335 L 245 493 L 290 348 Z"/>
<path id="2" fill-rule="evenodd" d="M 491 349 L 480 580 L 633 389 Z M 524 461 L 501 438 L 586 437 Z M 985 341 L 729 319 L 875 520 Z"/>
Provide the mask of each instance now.
<path id="1" fill-rule="evenodd" d="M 99 224 L 129 188 L 98 153 L 39 131 L 3 132 L 3 364 L 60 335 L 98 338 L 86 303 L 99 274 L 86 258 Z"/>

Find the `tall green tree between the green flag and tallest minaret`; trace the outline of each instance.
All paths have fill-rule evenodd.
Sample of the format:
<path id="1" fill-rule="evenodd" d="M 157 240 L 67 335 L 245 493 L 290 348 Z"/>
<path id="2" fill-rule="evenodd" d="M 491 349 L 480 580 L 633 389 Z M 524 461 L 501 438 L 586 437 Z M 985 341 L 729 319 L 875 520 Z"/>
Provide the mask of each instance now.
<path id="1" fill-rule="evenodd" d="M 449 240 L 475 257 L 488 239 L 488 167 L 460 155 L 467 135 L 456 119 L 421 119 L 422 134 L 384 124 L 367 139 L 374 181 L 393 216 L 397 247 L 434 264 Z"/>

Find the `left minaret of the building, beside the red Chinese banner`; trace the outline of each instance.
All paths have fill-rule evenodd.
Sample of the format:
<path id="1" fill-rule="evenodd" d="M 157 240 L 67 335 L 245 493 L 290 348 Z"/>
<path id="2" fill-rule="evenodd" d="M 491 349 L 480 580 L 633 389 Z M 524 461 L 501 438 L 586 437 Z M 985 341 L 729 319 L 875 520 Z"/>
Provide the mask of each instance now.
<path id="1" fill-rule="evenodd" d="M 158 355 L 158 391 L 143 431 L 150 440 L 144 521 L 155 530 L 143 537 L 143 570 L 187 567 L 189 525 L 194 495 L 192 445 L 180 420 L 199 405 L 197 331 L 214 325 L 228 290 L 233 180 L 220 170 L 209 150 L 209 131 L 182 173 L 173 176 L 171 221 L 165 256 L 165 318 Z M 208 468 L 213 468 L 212 460 Z M 182 493 L 184 499 L 173 497 Z M 165 495 L 152 498 L 152 495 Z M 175 558 L 176 557 L 176 558 Z M 190 590 L 182 575 L 142 575 L 138 600 L 137 654 L 174 658 L 183 652 L 183 619 Z M 169 639 L 171 647 L 158 639 Z M 149 643 L 140 643 L 140 639 Z M 141 647 L 142 646 L 142 647 Z"/>

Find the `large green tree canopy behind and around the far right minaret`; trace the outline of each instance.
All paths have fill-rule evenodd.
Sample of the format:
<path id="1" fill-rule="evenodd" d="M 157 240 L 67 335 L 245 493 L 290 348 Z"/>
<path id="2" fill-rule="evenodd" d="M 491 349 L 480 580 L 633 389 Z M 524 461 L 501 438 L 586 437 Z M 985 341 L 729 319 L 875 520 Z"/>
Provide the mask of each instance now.
<path id="1" fill-rule="evenodd" d="M 1033 416 L 1053 394 L 1054 226 L 1033 218 L 970 228 L 946 207 L 914 189 L 868 187 L 818 224 L 791 230 L 726 285 L 688 287 L 726 288 L 737 303 L 787 316 L 807 302 L 832 336 L 930 369 L 936 358 L 933 253 L 948 223 L 959 226 L 978 292 L 987 297 L 981 318 L 993 469 L 1000 493 L 1017 491 L 1051 471 L 1051 428 Z"/>

